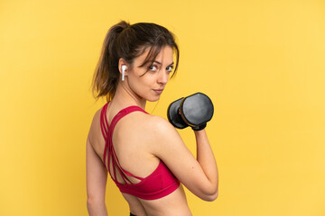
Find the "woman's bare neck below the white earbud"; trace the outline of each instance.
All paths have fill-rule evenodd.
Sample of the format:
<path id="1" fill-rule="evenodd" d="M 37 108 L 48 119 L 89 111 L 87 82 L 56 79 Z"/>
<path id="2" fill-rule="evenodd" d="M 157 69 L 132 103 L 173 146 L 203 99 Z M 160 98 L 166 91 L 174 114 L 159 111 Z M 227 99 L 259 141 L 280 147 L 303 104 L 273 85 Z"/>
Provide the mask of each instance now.
<path id="1" fill-rule="evenodd" d="M 127 80 L 125 80 L 127 82 Z M 124 81 L 124 82 L 125 82 Z M 114 95 L 112 102 L 117 106 L 130 106 L 136 105 L 145 109 L 146 100 L 133 92 L 128 85 L 118 83 L 116 88 L 116 94 Z"/>

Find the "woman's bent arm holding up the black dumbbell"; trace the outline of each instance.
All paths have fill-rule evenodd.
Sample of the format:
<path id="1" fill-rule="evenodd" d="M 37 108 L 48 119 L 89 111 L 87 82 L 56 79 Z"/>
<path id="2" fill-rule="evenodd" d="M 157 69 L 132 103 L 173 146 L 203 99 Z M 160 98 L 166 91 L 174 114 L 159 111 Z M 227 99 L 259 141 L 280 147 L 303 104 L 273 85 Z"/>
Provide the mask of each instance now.
<path id="1" fill-rule="evenodd" d="M 205 130 L 195 131 L 196 159 L 170 122 L 158 116 L 153 119 L 150 134 L 157 143 L 152 145 L 153 155 L 161 158 L 191 193 L 205 201 L 217 199 L 218 168 Z"/>

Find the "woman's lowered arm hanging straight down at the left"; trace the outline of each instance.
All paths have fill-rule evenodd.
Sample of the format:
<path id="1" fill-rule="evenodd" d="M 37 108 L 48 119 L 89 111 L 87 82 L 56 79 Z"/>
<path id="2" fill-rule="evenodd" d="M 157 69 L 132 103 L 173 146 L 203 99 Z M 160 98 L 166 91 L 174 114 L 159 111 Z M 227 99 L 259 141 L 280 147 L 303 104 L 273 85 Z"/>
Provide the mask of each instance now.
<path id="1" fill-rule="evenodd" d="M 107 169 L 87 139 L 86 148 L 87 173 L 87 208 L 90 216 L 107 216 L 105 192 Z"/>

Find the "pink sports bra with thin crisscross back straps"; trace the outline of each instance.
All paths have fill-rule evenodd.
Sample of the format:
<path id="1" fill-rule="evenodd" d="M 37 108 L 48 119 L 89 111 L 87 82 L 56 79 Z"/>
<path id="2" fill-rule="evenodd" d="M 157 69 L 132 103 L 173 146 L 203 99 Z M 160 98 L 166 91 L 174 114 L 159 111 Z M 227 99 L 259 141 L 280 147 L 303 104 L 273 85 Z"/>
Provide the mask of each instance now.
<path id="1" fill-rule="evenodd" d="M 155 200 L 155 199 L 162 198 L 163 196 L 166 196 L 172 193 L 173 191 L 175 191 L 179 187 L 180 181 L 174 175 L 172 175 L 172 172 L 168 169 L 168 167 L 163 163 L 162 160 L 159 162 L 159 165 L 153 171 L 153 173 L 144 178 L 132 175 L 122 168 L 122 166 L 118 162 L 118 158 L 116 157 L 116 152 L 113 147 L 113 142 L 112 142 L 113 130 L 116 126 L 116 123 L 128 113 L 135 112 L 135 111 L 140 111 L 140 112 L 145 112 L 145 111 L 138 106 L 126 107 L 125 109 L 118 112 L 116 116 L 113 118 L 111 124 L 108 125 L 107 115 L 106 115 L 108 103 L 104 105 L 100 113 L 100 127 L 104 139 L 106 140 L 103 161 L 104 161 L 104 166 L 106 166 L 106 159 L 107 159 L 107 170 L 109 172 L 109 175 L 113 179 L 113 181 L 116 183 L 116 186 L 119 188 L 120 192 L 128 193 L 144 200 Z M 145 113 L 148 114 L 148 112 Z M 112 163 L 113 166 L 112 168 L 113 173 L 111 173 L 109 169 L 110 163 Z M 124 184 L 117 182 L 116 170 L 121 175 Z M 141 182 L 137 184 L 133 184 L 127 178 L 126 175 L 133 176 L 141 180 Z"/>

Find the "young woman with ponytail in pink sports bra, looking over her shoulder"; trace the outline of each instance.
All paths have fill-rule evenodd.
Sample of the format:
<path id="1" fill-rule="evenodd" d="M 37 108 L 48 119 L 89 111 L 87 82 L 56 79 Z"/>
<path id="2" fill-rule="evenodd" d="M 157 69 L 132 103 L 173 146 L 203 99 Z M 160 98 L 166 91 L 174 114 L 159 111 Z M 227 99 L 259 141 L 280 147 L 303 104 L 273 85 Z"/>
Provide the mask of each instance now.
<path id="1" fill-rule="evenodd" d="M 163 26 L 121 22 L 107 32 L 93 90 L 108 102 L 95 113 L 87 139 L 89 215 L 107 215 L 107 171 L 130 215 L 191 215 L 182 185 L 202 200 L 218 197 L 206 131 L 193 130 L 195 158 L 170 122 L 144 111 L 146 101 L 159 100 L 178 63 L 178 46 Z"/>

